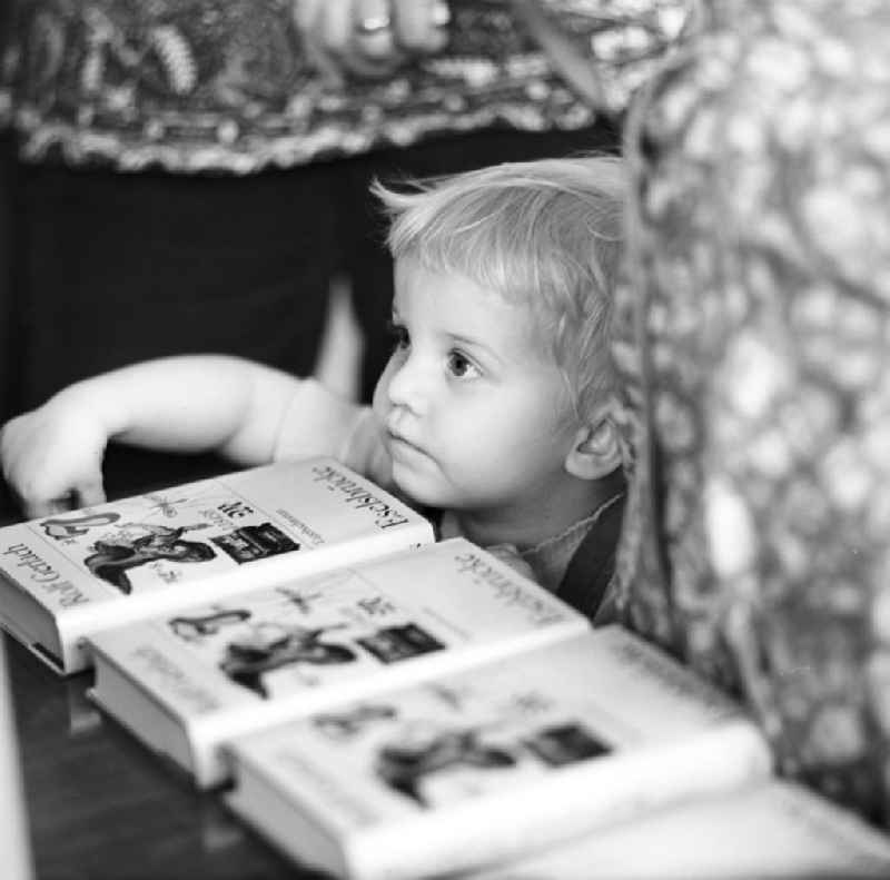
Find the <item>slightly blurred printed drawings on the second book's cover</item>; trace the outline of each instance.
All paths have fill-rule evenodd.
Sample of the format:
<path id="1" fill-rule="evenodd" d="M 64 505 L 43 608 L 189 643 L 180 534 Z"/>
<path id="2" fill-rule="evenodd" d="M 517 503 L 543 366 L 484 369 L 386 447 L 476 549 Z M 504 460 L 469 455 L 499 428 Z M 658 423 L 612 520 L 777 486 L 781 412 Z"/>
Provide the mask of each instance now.
<path id="1" fill-rule="evenodd" d="M 352 568 L 189 609 L 155 625 L 194 663 L 264 699 L 360 678 L 454 641 Z"/>

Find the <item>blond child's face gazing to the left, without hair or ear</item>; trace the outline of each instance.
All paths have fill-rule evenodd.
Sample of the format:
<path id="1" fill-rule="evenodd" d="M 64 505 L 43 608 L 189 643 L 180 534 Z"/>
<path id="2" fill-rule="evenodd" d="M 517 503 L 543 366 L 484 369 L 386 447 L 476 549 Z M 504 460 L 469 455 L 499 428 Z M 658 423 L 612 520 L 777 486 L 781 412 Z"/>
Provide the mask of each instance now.
<path id="1" fill-rule="evenodd" d="M 531 316 L 461 275 L 396 264 L 396 348 L 377 383 L 393 479 L 444 510 L 522 516 L 566 478 L 575 434 Z"/>

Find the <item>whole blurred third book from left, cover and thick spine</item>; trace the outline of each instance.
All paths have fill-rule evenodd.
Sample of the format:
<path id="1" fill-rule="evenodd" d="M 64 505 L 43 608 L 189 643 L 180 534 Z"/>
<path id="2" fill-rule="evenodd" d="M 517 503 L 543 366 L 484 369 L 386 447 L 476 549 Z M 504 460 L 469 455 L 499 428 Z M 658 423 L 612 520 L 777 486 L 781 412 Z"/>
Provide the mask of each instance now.
<path id="1" fill-rule="evenodd" d="M 609 626 L 234 740 L 231 808 L 294 859 L 417 880 L 771 773 L 728 698 Z"/>

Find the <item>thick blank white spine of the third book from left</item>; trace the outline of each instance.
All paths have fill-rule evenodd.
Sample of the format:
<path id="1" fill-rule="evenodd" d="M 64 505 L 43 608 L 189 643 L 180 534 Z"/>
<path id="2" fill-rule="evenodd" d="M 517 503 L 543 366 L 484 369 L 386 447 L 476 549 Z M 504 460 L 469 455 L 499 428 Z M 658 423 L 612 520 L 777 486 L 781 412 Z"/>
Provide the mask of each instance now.
<path id="1" fill-rule="evenodd" d="M 771 773 L 762 734 L 728 722 L 673 745 L 593 760 L 507 794 L 359 831 L 344 841 L 355 880 L 415 880 L 516 858 L 670 803 Z"/>

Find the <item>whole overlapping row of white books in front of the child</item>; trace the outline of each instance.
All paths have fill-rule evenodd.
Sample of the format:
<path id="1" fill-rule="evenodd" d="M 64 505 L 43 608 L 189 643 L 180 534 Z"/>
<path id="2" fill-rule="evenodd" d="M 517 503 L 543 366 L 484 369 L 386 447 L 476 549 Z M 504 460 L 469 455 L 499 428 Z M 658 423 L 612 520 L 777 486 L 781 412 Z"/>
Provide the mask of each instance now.
<path id="1" fill-rule="evenodd" d="M 336 877 L 890 876 L 741 705 L 334 459 L 2 528 L 0 624 Z"/>

